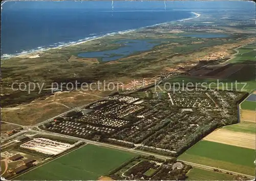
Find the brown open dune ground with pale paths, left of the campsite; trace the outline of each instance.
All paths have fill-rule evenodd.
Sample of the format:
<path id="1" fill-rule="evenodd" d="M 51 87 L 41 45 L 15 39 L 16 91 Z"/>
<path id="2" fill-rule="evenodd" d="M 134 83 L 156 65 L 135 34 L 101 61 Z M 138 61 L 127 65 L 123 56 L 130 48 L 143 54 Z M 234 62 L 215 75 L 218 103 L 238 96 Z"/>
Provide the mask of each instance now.
<path id="1" fill-rule="evenodd" d="M 78 91 L 55 93 L 46 99 L 33 100 L 33 103 L 19 105 L 20 109 L 1 109 L 3 121 L 20 125 L 33 125 L 50 119 L 58 114 L 64 113 L 72 108 L 88 104 L 100 99 L 101 96 L 108 95 L 107 91 Z"/>

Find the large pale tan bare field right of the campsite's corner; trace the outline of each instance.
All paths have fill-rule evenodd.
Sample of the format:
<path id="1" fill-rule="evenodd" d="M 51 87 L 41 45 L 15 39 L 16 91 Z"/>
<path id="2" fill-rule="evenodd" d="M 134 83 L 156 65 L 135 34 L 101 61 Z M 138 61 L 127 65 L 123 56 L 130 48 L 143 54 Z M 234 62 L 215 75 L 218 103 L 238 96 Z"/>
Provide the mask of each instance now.
<path id="1" fill-rule="evenodd" d="M 219 129 L 206 136 L 203 140 L 255 149 L 255 135 L 249 133 Z"/>

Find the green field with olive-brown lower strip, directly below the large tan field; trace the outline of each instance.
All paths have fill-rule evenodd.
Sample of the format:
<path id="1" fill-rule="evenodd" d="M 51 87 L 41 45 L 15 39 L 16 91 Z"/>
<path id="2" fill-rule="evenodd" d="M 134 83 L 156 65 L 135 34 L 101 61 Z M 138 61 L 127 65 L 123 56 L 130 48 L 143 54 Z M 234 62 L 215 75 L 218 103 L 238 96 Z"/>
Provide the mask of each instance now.
<path id="1" fill-rule="evenodd" d="M 254 175 L 255 150 L 202 140 L 178 158 L 225 170 Z"/>

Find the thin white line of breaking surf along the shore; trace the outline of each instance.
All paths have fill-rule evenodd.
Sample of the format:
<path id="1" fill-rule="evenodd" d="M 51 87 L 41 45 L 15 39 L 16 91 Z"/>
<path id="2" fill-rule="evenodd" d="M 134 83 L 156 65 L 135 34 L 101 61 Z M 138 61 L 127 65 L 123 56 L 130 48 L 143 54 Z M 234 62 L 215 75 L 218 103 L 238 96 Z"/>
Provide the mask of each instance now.
<path id="1" fill-rule="evenodd" d="M 191 13 L 196 15 L 196 16 L 190 17 L 190 18 L 184 18 L 184 19 L 177 20 L 177 21 L 179 21 L 179 22 L 180 21 L 185 21 L 185 20 L 197 18 L 197 17 L 199 17 L 201 15 L 201 14 L 194 13 L 194 12 L 191 12 Z M 41 51 L 45 51 L 45 50 L 49 50 L 49 49 L 55 49 L 55 48 L 71 46 L 71 45 L 77 45 L 77 44 L 81 44 L 81 43 L 84 43 L 84 42 L 87 42 L 87 41 L 91 41 L 91 40 L 94 40 L 94 39 L 99 39 L 99 38 L 102 38 L 102 37 L 105 37 L 105 36 L 114 36 L 116 34 L 130 33 L 130 32 L 134 32 L 136 30 L 141 30 L 143 28 L 156 27 L 158 25 L 167 24 L 169 22 L 172 22 L 172 21 L 163 22 L 163 23 L 157 23 L 157 24 L 153 24 L 153 25 L 148 25 L 146 27 L 141 27 L 141 28 L 138 28 L 138 29 L 130 29 L 130 30 L 113 32 L 113 33 L 106 33 L 106 34 L 103 34 L 103 35 L 101 34 L 101 35 L 98 35 L 98 36 L 86 37 L 84 39 L 79 39 L 77 41 L 69 41 L 69 42 L 60 41 L 58 43 L 54 43 L 52 45 L 49 45 L 48 47 L 38 46 L 37 48 L 33 48 L 33 49 L 30 49 L 30 50 L 23 50 L 22 52 L 16 53 L 16 54 L 3 54 L 3 55 L 1 55 L 1 59 L 9 59 L 9 58 L 12 58 L 12 57 L 24 56 L 24 55 L 28 55 L 28 54 L 32 54 L 32 53 L 39 53 Z M 93 34 L 90 34 L 90 35 L 93 35 Z"/>

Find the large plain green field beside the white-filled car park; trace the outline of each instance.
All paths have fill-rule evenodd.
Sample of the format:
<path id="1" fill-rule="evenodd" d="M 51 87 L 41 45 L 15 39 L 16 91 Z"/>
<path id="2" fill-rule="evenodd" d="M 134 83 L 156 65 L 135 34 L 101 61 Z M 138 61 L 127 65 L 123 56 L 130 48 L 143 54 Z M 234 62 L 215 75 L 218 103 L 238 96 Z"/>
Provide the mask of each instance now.
<path id="1" fill-rule="evenodd" d="M 97 180 L 136 154 L 87 144 L 15 180 Z"/>

